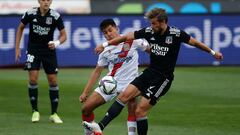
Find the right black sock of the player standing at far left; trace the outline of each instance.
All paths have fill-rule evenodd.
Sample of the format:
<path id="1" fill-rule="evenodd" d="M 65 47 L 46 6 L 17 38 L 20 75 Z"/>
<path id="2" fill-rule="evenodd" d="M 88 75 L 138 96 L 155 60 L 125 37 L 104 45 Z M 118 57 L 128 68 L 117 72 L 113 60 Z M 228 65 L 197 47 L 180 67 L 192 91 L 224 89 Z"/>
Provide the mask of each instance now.
<path id="1" fill-rule="evenodd" d="M 58 100 L 59 100 L 58 86 L 50 86 L 49 96 L 50 96 L 50 100 L 51 100 L 52 114 L 57 113 Z"/>

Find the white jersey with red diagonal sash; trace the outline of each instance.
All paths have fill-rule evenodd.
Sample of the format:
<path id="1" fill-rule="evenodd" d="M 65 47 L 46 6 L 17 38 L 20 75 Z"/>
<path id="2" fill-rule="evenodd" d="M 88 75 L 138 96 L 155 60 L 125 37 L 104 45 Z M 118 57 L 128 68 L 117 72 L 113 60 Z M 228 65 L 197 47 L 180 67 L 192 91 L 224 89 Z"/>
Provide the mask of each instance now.
<path id="1" fill-rule="evenodd" d="M 108 65 L 108 75 L 114 76 L 118 83 L 130 83 L 138 75 L 137 49 L 146 50 L 147 46 L 143 39 L 110 45 L 99 55 L 98 66 Z"/>

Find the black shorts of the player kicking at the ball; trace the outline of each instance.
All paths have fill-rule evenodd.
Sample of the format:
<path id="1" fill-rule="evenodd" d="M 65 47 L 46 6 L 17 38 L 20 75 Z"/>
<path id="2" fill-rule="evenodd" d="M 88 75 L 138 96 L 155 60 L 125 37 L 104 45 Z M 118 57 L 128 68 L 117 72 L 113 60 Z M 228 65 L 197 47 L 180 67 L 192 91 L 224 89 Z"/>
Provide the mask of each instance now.
<path id="1" fill-rule="evenodd" d="M 141 91 L 142 96 L 150 99 L 151 105 L 155 105 L 160 97 L 167 93 L 171 87 L 172 80 L 172 77 L 146 69 L 131 84 Z"/>

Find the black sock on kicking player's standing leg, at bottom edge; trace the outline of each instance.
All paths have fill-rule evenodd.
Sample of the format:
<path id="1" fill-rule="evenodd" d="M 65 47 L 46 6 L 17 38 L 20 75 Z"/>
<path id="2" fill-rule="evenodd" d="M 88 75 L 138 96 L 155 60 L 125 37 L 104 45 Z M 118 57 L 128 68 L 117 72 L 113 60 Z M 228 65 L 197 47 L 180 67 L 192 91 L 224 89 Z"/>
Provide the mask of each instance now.
<path id="1" fill-rule="evenodd" d="M 138 135 L 147 135 L 148 120 L 147 117 L 137 119 L 137 132 Z"/>

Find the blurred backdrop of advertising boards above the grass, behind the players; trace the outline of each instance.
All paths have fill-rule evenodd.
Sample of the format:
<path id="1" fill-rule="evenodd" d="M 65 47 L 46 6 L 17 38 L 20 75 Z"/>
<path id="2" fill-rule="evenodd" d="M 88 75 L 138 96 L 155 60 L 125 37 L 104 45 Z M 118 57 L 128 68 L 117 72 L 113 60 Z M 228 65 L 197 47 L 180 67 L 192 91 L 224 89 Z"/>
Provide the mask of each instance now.
<path id="1" fill-rule="evenodd" d="M 15 33 L 22 14 L 38 6 L 37 0 L 0 0 L 0 67 L 22 65 L 14 62 Z M 143 14 L 154 7 L 165 8 L 169 25 L 177 26 L 215 51 L 224 54 L 218 62 L 187 45 L 182 45 L 178 65 L 240 65 L 240 1 L 237 0 L 53 0 L 62 14 L 68 40 L 58 48 L 60 67 L 94 66 L 96 45 L 104 42 L 98 26 L 102 19 L 114 18 L 121 33 L 148 26 Z M 58 37 L 59 33 L 55 33 Z M 21 41 L 25 53 L 28 30 Z M 140 64 L 148 64 L 146 54 Z"/>

